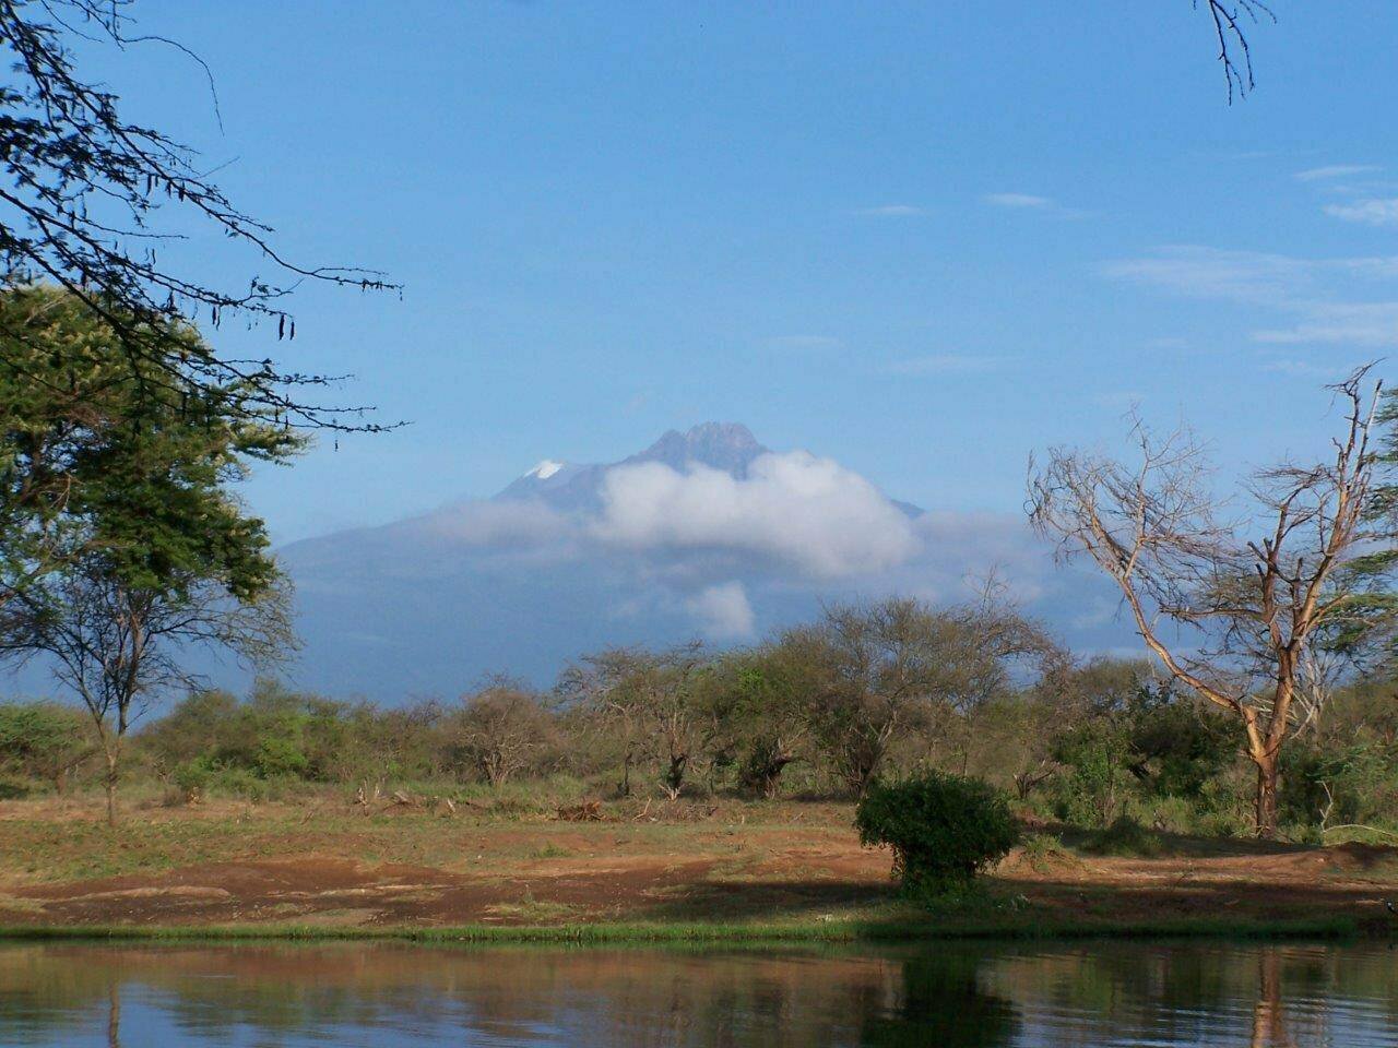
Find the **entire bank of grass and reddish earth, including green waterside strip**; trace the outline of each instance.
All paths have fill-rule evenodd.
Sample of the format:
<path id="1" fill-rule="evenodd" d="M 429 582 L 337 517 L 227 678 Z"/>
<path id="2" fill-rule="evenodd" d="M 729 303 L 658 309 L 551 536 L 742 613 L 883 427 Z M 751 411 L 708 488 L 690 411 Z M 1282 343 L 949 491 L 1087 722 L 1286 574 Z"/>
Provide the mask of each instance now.
<path id="1" fill-rule="evenodd" d="M 1128 823 L 1030 834 L 983 889 L 913 907 L 893 897 L 886 852 L 858 848 L 849 805 L 726 802 L 695 816 L 608 802 L 605 822 L 569 823 L 477 806 L 365 813 L 308 795 L 129 809 L 112 830 L 88 801 L 0 809 L 0 938 L 837 943 L 1398 928 L 1377 901 L 1398 897 L 1398 852 Z M 80 883 L 112 876 L 130 880 Z M 77 894 L 57 887 L 69 885 Z M 232 900 L 161 896 L 171 885 L 226 886 Z"/>

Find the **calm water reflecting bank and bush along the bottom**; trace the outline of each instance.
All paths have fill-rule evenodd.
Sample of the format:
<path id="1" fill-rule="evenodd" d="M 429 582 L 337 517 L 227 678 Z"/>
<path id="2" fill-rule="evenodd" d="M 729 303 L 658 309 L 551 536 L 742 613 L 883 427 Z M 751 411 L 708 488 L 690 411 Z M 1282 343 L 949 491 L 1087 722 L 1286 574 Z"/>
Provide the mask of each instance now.
<path id="1" fill-rule="evenodd" d="M 1398 1045 L 1366 946 L 0 947 L 4 1045 Z"/>

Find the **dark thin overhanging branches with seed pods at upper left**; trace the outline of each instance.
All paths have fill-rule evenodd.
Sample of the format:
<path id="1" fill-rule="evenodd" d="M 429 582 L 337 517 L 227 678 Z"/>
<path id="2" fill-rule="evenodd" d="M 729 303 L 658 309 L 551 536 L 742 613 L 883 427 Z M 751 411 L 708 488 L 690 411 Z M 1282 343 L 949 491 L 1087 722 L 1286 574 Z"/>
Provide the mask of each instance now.
<path id="1" fill-rule="evenodd" d="M 229 407 L 249 418 L 280 415 L 296 425 L 376 429 L 347 418 L 345 409 L 306 401 L 305 387 L 331 381 L 327 376 L 168 337 L 194 319 L 217 327 L 229 314 L 243 314 L 268 320 L 278 340 L 291 338 L 295 321 L 282 303 L 298 282 L 393 285 L 376 272 L 303 265 L 284 256 L 273 229 L 242 212 L 192 150 L 124 119 L 117 96 L 78 73 L 67 43 L 74 38 L 123 50 L 141 45 L 185 50 L 161 36 L 133 35 L 129 6 L 129 0 L 0 0 L 0 56 L 10 70 L 0 87 L 0 285 L 50 281 L 80 298 L 109 326 L 130 373 L 141 379 L 141 395 L 239 384 L 242 398 Z M 214 105 L 217 112 L 217 99 Z M 162 208 L 203 222 L 271 272 L 250 272 L 219 286 L 172 264 L 157 249 L 182 235 L 157 224 Z M 8 328 L 0 334 L 24 335 Z"/>

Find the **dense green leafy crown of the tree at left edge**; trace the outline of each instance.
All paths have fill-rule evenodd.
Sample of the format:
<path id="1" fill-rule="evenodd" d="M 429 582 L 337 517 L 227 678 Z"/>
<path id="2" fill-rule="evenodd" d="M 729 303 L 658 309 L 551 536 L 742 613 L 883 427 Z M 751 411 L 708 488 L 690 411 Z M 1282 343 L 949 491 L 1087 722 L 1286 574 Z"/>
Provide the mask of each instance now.
<path id="1" fill-rule="evenodd" d="M 112 324 L 49 286 L 0 293 L 0 604 L 98 559 L 133 588 L 233 598 L 275 580 L 263 523 L 226 485 L 303 437 L 259 418 L 252 386 L 180 386 L 144 370 Z M 192 327 L 165 333 L 204 352 Z"/>

